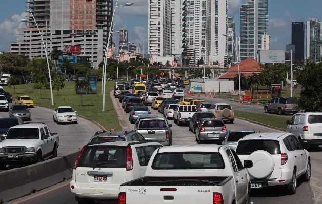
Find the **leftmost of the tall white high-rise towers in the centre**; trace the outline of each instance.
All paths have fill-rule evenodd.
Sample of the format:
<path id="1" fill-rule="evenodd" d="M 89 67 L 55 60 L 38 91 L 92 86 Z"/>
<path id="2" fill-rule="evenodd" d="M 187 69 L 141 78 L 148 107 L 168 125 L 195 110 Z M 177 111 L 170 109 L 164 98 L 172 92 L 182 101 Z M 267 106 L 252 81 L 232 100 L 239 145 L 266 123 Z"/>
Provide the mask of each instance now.
<path id="1" fill-rule="evenodd" d="M 148 1 L 148 54 L 152 56 L 171 54 L 170 3 L 170 0 Z"/>

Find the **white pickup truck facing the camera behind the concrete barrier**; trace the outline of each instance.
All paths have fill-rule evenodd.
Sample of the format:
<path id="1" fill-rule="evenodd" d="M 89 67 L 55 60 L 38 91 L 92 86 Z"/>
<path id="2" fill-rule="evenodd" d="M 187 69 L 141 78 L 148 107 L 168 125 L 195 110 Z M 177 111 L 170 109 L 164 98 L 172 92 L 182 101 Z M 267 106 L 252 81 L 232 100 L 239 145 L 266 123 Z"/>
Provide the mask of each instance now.
<path id="1" fill-rule="evenodd" d="M 28 164 L 57 157 L 59 137 L 44 123 L 13 126 L 0 142 L 0 169 L 7 164 Z"/>

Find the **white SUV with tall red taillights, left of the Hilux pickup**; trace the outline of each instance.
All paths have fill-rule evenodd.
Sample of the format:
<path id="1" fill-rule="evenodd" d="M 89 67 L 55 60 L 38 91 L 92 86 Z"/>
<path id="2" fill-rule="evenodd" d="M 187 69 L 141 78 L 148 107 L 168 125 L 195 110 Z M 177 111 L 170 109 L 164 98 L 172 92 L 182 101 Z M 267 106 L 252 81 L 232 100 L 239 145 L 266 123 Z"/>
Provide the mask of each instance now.
<path id="1" fill-rule="evenodd" d="M 78 203 L 118 198 L 119 186 L 143 177 L 156 142 L 102 142 L 87 144 L 75 161 L 71 192 Z"/>

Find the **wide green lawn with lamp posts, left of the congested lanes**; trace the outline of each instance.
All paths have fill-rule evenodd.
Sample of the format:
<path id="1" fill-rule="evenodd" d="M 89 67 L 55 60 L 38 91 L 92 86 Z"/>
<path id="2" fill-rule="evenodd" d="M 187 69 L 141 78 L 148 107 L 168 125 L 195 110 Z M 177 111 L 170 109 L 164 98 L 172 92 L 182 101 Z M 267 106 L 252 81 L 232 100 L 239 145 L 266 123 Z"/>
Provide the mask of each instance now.
<path id="1" fill-rule="evenodd" d="M 59 90 L 59 95 L 57 95 L 57 90 L 53 90 L 55 106 L 51 106 L 50 90 L 43 88 L 41 98 L 40 90 L 35 90 L 33 83 L 27 85 L 16 85 L 15 94 L 13 94 L 13 86 L 4 86 L 3 88 L 5 91 L 9 91 L 12 94 L 13 102 L 17 95 L 28 95 L 34 100 L 35 105 L 42 105 L 50 108 L 55 108 L 57 106 L 71 106 L 77 111 L 77 114 L 97 121 L 107 130 L 110 130 L 111 128 L 122 130 L 109 94 L 110 90 L 113 89 L 115 82 L 106 82 L 105 112 L 102 112 L 103 95 L 100 94 L 101 85 L 102 83 L 97 84 L 97 93 L 99 94 L 83 94 L 83 106 L 81 106 L 81 95 L 76 94 L 75 83 L 73 81 L 66 82 L 65 88 Z"/>

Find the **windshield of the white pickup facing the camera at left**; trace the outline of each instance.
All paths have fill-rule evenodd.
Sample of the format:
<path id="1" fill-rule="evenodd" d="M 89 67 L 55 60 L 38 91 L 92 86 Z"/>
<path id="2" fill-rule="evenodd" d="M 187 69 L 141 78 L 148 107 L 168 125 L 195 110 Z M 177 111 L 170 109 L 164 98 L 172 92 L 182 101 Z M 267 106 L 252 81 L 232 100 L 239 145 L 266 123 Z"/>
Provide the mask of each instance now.
<path id="1" fill-rule="evenodd" d="M 11 128 L 6 139 L 39 139 L 38 128 Z"/>

